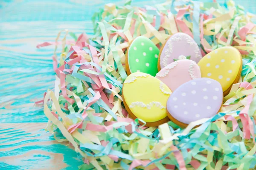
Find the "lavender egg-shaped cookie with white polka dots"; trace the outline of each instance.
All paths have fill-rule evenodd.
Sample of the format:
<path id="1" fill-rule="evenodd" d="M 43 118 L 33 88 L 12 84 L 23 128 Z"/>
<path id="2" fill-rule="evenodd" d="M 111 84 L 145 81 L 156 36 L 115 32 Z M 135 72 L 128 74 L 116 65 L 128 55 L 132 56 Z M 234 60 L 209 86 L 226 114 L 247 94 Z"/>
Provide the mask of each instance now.
<path id="1" fill-rule="evenodd" d="M 219 82 L 209 78 L 184 83 L 169 97 L 166 105 L 169 118 L 181 127 L 218 113 L 223 102 Z"/>

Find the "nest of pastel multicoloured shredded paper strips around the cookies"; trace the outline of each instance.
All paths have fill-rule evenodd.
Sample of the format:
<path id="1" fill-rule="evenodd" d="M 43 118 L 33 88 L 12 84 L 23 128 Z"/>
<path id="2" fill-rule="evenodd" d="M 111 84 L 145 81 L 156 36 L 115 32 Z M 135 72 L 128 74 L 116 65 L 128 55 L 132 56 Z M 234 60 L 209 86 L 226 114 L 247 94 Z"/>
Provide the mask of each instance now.
<path id="1" fill-rule="evenodd" d="M 232 0 L 223 6 L 215 1 L 167 1 L 146 8 L 133 7 L 131 1 L 124 6 L 106 4 L 93 16 L 95 35 L 90 39 L 63 30 L 55 42 L 37 46 L 55 45 L 55 88 L 44 96 L 47 130 L 56 140 L 73 145 L 84 159 L 80 170 L 255 168 L 256 28 L 252 17 Z M 128 117 L 122 103 L 125 52 L 138 36 L 150 38 L 160 48 L 170 34 L 179 31 L 194 37 L 204 55 L 226 45 L 239 49 L 241 79 L 225 96 L 220 113 L 210 119 L 192 122 L 185 129 L 173 122 L 144 127 L 139 124 L 143 120 Z M 69 35 L 75 40 L 67 40 Z"/>

